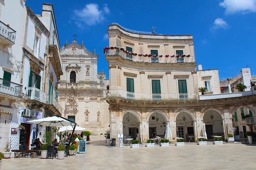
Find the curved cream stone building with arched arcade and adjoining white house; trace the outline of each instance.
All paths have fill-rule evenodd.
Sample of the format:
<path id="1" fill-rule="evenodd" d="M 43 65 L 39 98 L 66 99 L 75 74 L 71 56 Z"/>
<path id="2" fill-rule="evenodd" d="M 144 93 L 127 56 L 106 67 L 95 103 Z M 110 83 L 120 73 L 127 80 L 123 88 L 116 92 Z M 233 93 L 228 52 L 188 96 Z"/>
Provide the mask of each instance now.
<path id="1" fill-rule="evenodd" d="M 109 47 L 104 48 L 109 63 L 109 103 L 111 138 L 118 133 L 125 138 L 145 142 L 164 137 L 170 124 L 172 139 L 195 141 L 233 134 L 233 115 L 238 108 L 248 108 L 255 116 L 255 93 L 222 96 L 218 69 L 196 69 L 192 35 L 163 35 L 109 25 Z M 199 87 L 207 87 L 200 95 Z"/>

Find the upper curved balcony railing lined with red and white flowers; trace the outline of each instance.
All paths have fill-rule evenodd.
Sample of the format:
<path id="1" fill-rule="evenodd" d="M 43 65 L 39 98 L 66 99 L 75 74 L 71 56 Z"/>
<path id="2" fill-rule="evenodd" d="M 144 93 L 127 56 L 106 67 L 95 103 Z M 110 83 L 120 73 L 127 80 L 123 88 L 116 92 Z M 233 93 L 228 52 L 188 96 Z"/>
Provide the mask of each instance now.
<path id="1" fill-rule="evenodd" d="M 120 49 L 107 49 L 104 50 L 105 56 L 120 56 L 126 60 L 134 61 L 134 62 L 147 62 L 147 63 L 194 63 L 194 56 L 184 55 L 184 56 L 151 56 L 150 54 L 129 54 Z"/>

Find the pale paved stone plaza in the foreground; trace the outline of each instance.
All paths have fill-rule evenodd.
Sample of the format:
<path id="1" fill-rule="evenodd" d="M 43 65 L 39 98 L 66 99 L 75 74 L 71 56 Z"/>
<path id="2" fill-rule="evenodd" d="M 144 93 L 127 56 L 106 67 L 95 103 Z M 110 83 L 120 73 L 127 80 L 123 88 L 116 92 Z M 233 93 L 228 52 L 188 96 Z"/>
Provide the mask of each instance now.
<path id="1" fill-rule="evenodd" d="M 86 154 L 57 159 L 11 158 L 1 170 L 103 170 L 103 169 L 255 169 L 256 145 L 223 144 L 183 147 L 108 148 L 105 138 L 94 136 Z"/>

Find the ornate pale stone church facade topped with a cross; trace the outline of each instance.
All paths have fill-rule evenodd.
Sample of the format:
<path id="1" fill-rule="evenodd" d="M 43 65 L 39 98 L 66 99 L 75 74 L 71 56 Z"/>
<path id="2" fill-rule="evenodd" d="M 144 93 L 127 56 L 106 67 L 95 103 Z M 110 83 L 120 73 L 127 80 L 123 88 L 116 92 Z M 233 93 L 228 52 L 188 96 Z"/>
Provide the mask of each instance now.
<path id="1" fill-rule="evenodd" d="M 108 103 L 103 90 L 109 80 L 103 70 L 98 73 L 99 55 L 90 52 L 75 40 L 61 48 L 63 76 L 58 83 L 59 102 L 63 117 L 87 128 L 92 134 L 109 130 Z"/>

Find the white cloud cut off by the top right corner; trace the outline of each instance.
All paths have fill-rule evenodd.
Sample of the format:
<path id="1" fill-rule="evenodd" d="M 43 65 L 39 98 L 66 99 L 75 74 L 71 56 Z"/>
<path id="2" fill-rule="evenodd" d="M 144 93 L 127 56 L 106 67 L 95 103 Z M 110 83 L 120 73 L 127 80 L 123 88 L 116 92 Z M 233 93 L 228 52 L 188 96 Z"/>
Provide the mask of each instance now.
<path id="1" fill-rule="evenodd" d="M 226 8 L 226 14 L 256 12 L 256 0 L 223 0 L 219 5 Z"/>

